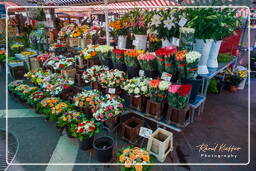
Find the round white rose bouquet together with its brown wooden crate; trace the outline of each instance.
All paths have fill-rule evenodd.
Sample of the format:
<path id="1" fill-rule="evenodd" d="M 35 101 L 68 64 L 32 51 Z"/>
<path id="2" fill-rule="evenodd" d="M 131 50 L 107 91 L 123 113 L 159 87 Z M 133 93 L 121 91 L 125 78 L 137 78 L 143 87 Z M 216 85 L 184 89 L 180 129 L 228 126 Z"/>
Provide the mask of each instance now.
<path id="1" fill-rule="evenodd" d="M 128 94 L 129 106 L 138 111 L 145 111 L 147 98 L 149 94 L 150 78 L 136 77 L 127 80 L 123 89 Z"/>

